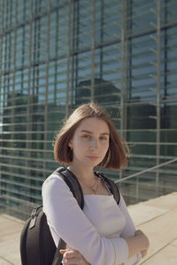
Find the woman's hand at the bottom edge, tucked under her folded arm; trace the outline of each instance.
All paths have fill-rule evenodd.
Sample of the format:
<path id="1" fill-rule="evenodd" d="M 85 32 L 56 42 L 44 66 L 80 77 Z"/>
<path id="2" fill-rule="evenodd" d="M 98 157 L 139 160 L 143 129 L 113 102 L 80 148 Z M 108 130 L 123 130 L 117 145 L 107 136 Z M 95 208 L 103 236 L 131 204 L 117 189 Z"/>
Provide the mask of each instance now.
<path id="1" fill-rule="evenodd" d="M 81 253 L 73 249 L 60 249 L 60 254 L 64 256 L 64 265 L 90 265 L 88 261 L 84 259 Z"/>

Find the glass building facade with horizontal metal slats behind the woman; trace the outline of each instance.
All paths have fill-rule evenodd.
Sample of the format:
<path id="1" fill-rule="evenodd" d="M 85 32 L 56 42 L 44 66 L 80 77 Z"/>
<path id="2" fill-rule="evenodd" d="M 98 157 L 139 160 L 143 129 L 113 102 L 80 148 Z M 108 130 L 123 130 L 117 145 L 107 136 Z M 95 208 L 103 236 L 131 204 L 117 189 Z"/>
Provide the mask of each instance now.
<path id="1" fill-rule="evenodd" d="M 112 179 L 177 155 L 176 0 L 0 0 L 0 209 L 26 219 L 58 167 L 65 115 L 95 101 L 131 156 Z M 119 185 L 128 203 L 175 189 L 177 164 Z M 138 184 L 138 186 L 137 186 Z"/>

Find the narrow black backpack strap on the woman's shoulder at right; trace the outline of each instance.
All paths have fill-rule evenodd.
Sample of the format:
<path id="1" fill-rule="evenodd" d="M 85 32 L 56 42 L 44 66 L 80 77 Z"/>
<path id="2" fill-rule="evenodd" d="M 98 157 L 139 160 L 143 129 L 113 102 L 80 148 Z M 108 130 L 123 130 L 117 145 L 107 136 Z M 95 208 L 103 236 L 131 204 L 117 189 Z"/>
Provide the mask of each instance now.
<path id="1" fill-rule="evenodd" d="M 109 191 L 112 193 L 114 200 L 118 203 L 119 205 L 119 200 L 120 200 L 120 193 L 119 193 L 119 188 L 115 184 L 115 182 L 104 176 L 102 172 L 99 171 L 94 171 L 97 177 L 103 179 L 105 185 L 108 187 Z"/>

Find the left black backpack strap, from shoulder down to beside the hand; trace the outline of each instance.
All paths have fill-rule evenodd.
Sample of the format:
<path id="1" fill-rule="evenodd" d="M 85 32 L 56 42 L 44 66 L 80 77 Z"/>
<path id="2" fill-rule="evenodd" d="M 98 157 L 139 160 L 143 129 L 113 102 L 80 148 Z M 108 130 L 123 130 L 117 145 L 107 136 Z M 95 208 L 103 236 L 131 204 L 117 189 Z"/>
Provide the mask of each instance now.
<path id="1" fill-rule="evenodd" d="M 81 189 L 81 185 L 75 175 L 73 173 L 64 168 L 59 167 L 57 170 L 54 171 L 55 174 L 57 174 L 60 178 L 63 178 L 65 180 L 65 183 L 67 186 L 69 186 L 71 192 L 73 193 L 73 197 L 78 202 L 81 209 L 84 207 L 84 197 L 83 192 Z M 63 239 L 59 239 L 58 248 L 56 250 L 52 265 L 60 265 L 61 261 L 63 259 L 63 254 L 59 253 L 60 249 L 65 249 L 65 241 Z"/>

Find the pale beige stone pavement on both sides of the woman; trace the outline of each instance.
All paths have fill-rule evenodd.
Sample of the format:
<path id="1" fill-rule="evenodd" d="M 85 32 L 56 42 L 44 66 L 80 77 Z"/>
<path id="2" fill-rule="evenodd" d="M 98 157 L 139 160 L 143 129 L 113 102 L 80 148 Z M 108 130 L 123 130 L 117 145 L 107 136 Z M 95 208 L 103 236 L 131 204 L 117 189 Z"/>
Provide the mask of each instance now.
<path id="1" fill-rule="evenodd" d="M 177 264 L 177 192 L 129 206 L 137 229 L 150 239 L 150 250 L 140 264 Z M 23 221 L 0 215 L 0 265 L 20 265 L 19 237 Z M 37 264 L 34 264 L 37 265 Z"/>

